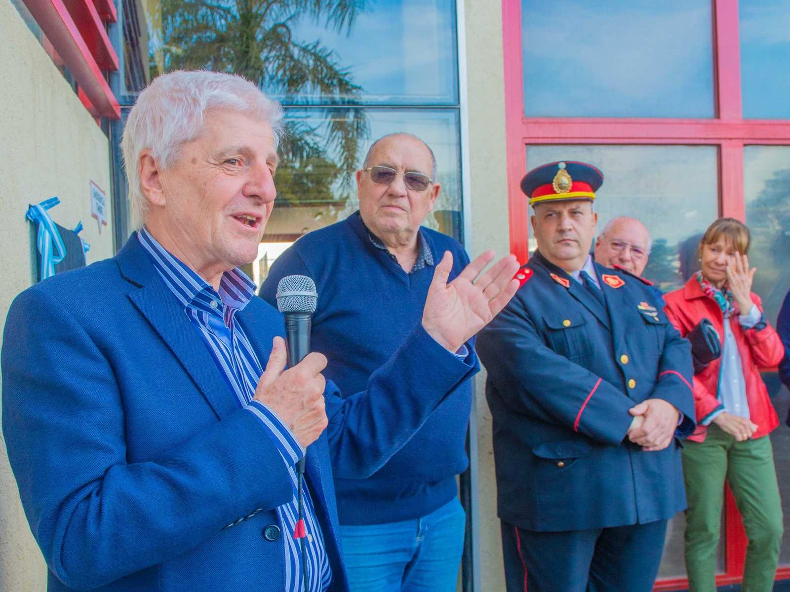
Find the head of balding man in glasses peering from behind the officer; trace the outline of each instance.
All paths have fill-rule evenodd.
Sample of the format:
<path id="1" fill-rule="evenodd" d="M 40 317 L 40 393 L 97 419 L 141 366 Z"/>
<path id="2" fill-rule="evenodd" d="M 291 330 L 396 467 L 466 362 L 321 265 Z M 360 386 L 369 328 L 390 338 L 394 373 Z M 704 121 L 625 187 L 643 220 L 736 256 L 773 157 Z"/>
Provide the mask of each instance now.
<path id="1" fill-rule="evenodd" d="M 652 246 L 647 227 L 636 218 L 621 215 L 609 220 L 596 238 L 595 260 L 607 268 L 619 265 L 642 275 Z"/>

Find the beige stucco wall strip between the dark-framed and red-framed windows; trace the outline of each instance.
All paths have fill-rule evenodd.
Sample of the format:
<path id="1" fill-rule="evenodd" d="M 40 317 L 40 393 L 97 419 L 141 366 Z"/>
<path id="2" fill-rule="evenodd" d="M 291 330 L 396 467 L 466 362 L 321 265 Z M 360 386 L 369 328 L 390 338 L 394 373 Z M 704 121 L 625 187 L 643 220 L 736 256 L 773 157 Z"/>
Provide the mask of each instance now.
<path id="1" fill-rule="evenodd" d="M 472 176 L 470 252 L 495 249 L 504 255 L 508 242 L 505 144 L 505 86 L 502 62 L 502 9 L 491 0 L 466 0 L 469 159 Z M 502 541 L 496 517 L 491 412 L 485 400 L 485 371 L 477 375 L 477 440 L 480 475 L 480 563 L 482 590 L 505 590 Z"/>

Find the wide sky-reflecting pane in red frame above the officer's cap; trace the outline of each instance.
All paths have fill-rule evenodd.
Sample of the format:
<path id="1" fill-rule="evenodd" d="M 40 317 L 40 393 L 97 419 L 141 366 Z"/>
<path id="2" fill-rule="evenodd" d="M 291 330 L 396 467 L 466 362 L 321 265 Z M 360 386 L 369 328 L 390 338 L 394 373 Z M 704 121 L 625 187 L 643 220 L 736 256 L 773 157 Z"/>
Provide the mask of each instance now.
<path id="1" fill-rule="evenodd" d="M 710 0 L 522 0 L 528 117 L 711 118 Z"/>

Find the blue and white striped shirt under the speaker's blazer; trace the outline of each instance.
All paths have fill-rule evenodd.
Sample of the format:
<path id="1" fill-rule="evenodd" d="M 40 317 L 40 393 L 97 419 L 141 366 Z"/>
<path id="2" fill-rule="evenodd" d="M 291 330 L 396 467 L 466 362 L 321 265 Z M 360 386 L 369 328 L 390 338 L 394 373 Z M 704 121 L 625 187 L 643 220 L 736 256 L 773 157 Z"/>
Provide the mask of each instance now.
<path id="1" fill-rule="evenodd" d="M 217 369 L 235 395 L 239 407 L 250 410 L 263 422 L 274 444 L 288 466 L 293 481 L 293 498 L 288 504 L 276 508 L 280 517 L 285 545 L 285 582 L 286 592 L 303 591 L 302 565 L 300 562 L 299 541 L 292 534 L 298 520 L 296 500 L 295 465 L 305 453 L 299 440 L 296 440 L 288 426 L 280 421 L 269 407 L 253 400 L 255 388 L 263 373 L 261 363 L 239 324 L 235 324 L 235 314 L 254 298 L 255 284 L 235 268 L 225 272 L 220 280 L 220 290 L 202 279 L 177 257 L 168 253 L 145 227 L 137 233 L 145 250 L 151 256 L 156 271 L 164 283 L 184 307 L 186 316 L 192 321 L 198 335 L 205 343 Z M 315 516 L 310 490 L 303 488 L 304 518 L 307 530 L 307 575 L 308 592 L 323 592 L 332 580 L 329 558 L 326 556 L 321 527 Z"/>

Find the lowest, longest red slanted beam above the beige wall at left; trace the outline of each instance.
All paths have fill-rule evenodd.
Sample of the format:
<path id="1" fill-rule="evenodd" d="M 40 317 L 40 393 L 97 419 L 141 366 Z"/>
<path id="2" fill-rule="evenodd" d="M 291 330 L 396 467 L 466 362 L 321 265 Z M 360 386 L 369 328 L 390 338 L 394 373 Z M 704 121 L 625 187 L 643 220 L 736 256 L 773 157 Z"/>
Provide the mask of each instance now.
<path id="1" fill-rule="evenodd" d="M 92 103 L 94 111 L 91 114 L 119 119 L 118 100 L 62 0 L 24 0 L 24 4 Z"/>

